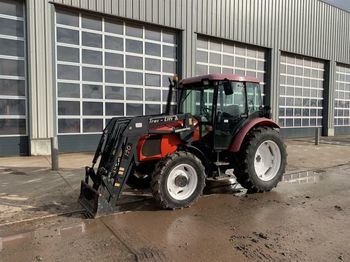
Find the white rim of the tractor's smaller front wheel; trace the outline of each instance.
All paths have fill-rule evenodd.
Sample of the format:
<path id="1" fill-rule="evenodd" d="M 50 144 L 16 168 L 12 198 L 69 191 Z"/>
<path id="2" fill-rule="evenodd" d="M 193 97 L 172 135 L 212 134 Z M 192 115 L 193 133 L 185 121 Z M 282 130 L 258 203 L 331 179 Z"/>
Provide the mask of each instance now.
<path id="1" fill-rule="evenodd" d="M 198 177 L 196 170 L 188 164 L 173 168 L 167 180 L 169 195 L 175 200 L 185 200 L 196 190 Z"/>

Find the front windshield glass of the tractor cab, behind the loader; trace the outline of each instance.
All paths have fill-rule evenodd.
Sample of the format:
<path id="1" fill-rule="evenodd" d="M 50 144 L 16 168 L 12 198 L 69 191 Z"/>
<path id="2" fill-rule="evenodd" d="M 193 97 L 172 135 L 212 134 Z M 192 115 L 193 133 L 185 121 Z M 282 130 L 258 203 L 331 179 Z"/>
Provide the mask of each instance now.
<path id="1" fill-rule="evenodd" d="M 190 113 L 202 121 L 209 121 L 213 112 L 214 87 L 184 89 L 180 101 L 180 113 Z"/>

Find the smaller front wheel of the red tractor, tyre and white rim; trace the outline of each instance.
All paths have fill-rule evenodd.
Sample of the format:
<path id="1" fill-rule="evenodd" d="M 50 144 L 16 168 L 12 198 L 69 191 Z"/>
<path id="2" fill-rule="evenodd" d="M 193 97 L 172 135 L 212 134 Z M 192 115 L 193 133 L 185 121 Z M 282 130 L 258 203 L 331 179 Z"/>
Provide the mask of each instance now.
<path id="1" fill-rule="evenodd" d="M 176 152 L 160 160 L 152 175 L 152 193 L 163 208 L 190 206 L 204 186 L 204 166 L 189 152 Z"/>

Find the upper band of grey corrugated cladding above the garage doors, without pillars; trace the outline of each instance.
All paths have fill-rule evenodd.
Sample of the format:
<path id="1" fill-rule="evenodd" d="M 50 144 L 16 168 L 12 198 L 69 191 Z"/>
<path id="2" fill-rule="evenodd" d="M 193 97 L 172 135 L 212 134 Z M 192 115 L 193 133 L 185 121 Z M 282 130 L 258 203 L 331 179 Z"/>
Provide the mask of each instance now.
<path id="1" fill-rule="evenodd" d="M 350 14 L 319 0 L 51 2 L 350 63 Z"/>

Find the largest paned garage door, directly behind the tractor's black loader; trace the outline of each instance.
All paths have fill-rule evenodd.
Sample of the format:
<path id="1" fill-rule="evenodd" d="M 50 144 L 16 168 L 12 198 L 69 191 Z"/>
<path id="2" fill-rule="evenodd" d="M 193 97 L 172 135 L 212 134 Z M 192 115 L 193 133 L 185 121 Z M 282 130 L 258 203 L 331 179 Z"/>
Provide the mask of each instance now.
<path id="1" fill-rule="evenodd" d="M 112 116 L 163 112 L 176 54 L 176 32 L 57 10 L 58 134 L 96 134 Z"/>

